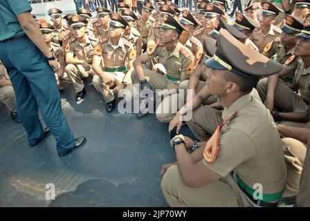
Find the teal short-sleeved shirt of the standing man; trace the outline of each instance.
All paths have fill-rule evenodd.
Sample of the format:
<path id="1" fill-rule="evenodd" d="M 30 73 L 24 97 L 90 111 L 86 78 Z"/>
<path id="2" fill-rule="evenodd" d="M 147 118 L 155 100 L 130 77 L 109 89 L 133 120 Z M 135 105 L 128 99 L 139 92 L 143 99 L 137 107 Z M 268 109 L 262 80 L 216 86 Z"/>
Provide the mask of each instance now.
<path id="1" fill-rule="evenodd" d="M 1 0 L 0 1 L 0 41 L 25 35 L 17 15 L 30 12 L 28 0 Z"/>

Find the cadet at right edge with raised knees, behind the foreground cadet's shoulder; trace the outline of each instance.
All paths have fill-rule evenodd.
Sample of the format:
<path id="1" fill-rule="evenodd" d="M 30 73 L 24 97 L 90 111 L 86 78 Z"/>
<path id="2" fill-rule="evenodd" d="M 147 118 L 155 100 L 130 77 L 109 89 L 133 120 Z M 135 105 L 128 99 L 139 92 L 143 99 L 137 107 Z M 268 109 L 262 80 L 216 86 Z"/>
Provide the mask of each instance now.
<path id="1" fill-rule="evenodd" d="M 268 106 L 275 121 L 291 126 L 303 126 L 309 120 L 306 111 L 310 104 L 310 15 L 304 20 L 304 29 L 297 36 L 299 39 L 293 54 L 300 56 L 300 59 L 298 59 L 292 88 L 299 89 L 299 93 L 295 93 L 288 86 L 279 83 L 275 89 L 269 90 L 270 88 L 268 88 L 269 93 L 267 94 L 266 80 L 259 81 L 257 85 L 257 91 L 263 101 L 268 101 L 268 103 L 265 101 L 265 105 Z M 274 86 L 274 84 L 272 85 Z M 266 95 L 268 95 L 268 99 Z M 273 104 L 278 111 L 273 111 Z"/>

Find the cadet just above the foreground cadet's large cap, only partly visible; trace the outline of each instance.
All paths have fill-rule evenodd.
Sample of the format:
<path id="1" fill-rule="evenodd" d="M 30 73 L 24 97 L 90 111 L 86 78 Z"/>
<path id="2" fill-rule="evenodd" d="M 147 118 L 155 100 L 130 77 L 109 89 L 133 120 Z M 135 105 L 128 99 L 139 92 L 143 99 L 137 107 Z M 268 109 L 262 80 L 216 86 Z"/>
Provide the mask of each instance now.
<path id="1" fill-rule="evenodd" d="M 247 17 L 246 15 L 242 15 L 241 12 L 236 12 L 236 20 L 233 26 L 239 30 L 239 32 L 244 33 L 248 38 L 245 40 L 240 40 L 242 43 L 244 43 L 246 46 L 249 46 L 253 50 L 256 50 L 259 52 L 259 49 L 253 41 L 250 40 L 250 35 L 252 35 L 255 28 L 260 28 L 259 22 L 255 19 L 251 19 L 250 17 Z"/>

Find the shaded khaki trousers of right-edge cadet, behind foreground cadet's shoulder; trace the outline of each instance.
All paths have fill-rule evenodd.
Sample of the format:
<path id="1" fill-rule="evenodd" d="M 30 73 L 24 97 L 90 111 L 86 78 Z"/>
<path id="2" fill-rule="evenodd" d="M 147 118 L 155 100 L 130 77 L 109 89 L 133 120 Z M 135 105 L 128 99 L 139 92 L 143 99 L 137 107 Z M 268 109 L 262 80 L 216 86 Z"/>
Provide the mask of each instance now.
<path id="1" fill-rule="evenodd" d="M 267 95 L 267 80 L 267 77 L 259 80 L 256 88 L 263 102 L 266 100 Z M 277 88 L 275 88 L 275 106 L 282 111 L 295 113 L 304 113 L 308 108 L 308 104 L 304 102 L 300 95 L 293 92 L 293 90 L 281 82 L 279 82 Z M 305 123 L 283 121 L 281 124 L 302 127 Z"/>

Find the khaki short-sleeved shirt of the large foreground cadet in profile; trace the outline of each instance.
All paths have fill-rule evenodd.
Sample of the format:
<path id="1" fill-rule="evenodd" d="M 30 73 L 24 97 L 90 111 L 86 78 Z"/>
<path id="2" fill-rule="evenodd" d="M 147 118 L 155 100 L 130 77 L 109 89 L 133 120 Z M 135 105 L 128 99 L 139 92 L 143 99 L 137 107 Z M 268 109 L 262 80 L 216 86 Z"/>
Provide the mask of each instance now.
<path id="1" fill-rule="evenodd" d="M 221 127 L 219 151 L 208 169 L 226 177 L 231 171 L 252 189 L 262 184 L 263 193 L 278 193 L 286 184 L 286 165 L 280 135 L 268 110 L 250 94 L 224 108 L 222 119 L 237 115 Z"/>

